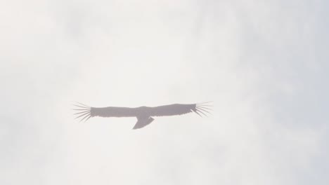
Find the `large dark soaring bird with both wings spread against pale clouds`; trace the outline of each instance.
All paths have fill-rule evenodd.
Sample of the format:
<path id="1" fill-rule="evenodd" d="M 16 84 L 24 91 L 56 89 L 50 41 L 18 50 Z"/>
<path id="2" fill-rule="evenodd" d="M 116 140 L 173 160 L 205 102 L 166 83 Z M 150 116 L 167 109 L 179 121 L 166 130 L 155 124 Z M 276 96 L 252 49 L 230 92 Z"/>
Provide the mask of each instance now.
<path id="1" fill-rule="evenodd" d="M 133 129 L 143 128 L 154 121 L 155 116 L 177 116 L 181 114 L 188 114 L 195 112 L 199 116 L 207 116 L 212 111 L 212 105 L 209 102 L 198 104 L 168 104 L 157 107 L 89 107 L 88 105 L 76 102 L 75 113 L 80 121 L 87 121 L 91 117 L 136 117 L 137 123 Z"/>

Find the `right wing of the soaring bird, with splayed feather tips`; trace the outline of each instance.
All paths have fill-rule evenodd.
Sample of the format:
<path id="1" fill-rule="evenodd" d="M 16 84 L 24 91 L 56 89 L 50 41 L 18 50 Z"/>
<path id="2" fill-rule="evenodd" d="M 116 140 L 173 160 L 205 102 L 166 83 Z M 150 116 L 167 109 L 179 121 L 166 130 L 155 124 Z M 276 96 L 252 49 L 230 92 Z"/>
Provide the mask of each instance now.
<path id="1" fill-rule="evenodd" d="M 150 109 L 150 116 L 176 116 L 191 112 L 195 112 L 199 116 L 201 116 L 201 114 L 207 116 L 205 113 L 209 113 L 211 109 L 209 109 L 210 105 L 207 105 L 206 103 L 208 102 L 200 104 L 169 104 L 152 107 Z"/>

